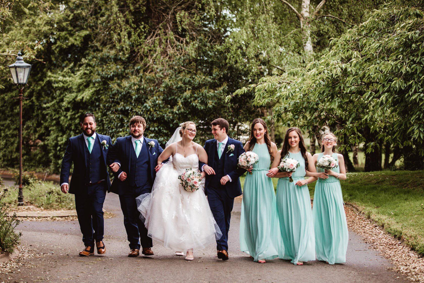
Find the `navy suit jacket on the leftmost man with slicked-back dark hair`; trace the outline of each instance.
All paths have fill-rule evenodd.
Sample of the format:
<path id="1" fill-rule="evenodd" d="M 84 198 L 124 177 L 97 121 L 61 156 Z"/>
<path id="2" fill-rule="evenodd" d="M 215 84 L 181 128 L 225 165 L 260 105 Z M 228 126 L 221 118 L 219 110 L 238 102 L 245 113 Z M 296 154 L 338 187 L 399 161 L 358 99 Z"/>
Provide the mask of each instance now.
<path id="1" fill-rule="evenodd" d="M 101 142 L 105 140 L 108 144 L 108 147 L 103 147 Z M 106 156 L 109 150 L 109 147 L 112 145 L 112 139 L 110 136 L 103 136 L 99 133 L 96 133 L 95 142 L 100 144 L 102 149 L 102 156 L 104 165 L 106 168 L 106 183 L 107 189 L 110 190 L 110 179 L 109 172 L 107 171 L 106 165 Z M 62 159 L 62 166 L 60 169 L 60 183 L 69 183 L 69 174 L 71 170 L 72 163 L 74 164 L 74 171 L 72 173 L 71 182 L 69 184 L 69 193 L 75 194 L 80 192 L 85 187 L 85 177 L 86 177 L 86 143 L 84 140 L 83 134 L 79 136 L 73 136 L 68 141 L 68 146 L 66 147 L 65 154 Z"/>

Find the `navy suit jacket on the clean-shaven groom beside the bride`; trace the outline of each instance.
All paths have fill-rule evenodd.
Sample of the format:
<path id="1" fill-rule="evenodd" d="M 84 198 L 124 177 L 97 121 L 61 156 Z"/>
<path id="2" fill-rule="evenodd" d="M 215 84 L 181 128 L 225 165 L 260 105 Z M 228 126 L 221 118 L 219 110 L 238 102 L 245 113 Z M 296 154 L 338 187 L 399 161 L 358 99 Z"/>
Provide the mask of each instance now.
<path id="1" fill-rule="evenodd" d="M 205 142 L 204 149 L 206 150 L 206 153 L 208 155 L 208 165 L 210 167 L 214 166 L 214 156 L 215 151 L 217 151 L 217 140 L 216 139 L 209 139 Z M 228 146 L 230 144 L 234 144 L 234 151 L 229 151 Z M 228 195 L 232 198 L 235 198 L 242 194 L 241 192 L 241 184 L 240 184 L 240 176 L 243 175 L 243 173 L 246 172 L 246 170 L 238 168 L 238 158 L 239 156 L 244 153 L 245 150 L 243 149 L 243 144 L 240 141 L 237 141 L 236 139 L 228 138 L 228 142 L 225 145 L 225 150 L 223 152 L 223 156 L 221 158 L 224 158 L 224 176 L 229 175 L 231 178 L 231 182 L 228 181 L 225 184 L 225 188 L 228 192 Z M 201 168 L 205 163 L 199 162 L 199 167 Z M 205 181 L 205 193 L 208 194 L 208 185 L 211 180 L 211 178 L 215 178 L 216 175 L 207 175 L 206 174 L 206 181 Z"/>

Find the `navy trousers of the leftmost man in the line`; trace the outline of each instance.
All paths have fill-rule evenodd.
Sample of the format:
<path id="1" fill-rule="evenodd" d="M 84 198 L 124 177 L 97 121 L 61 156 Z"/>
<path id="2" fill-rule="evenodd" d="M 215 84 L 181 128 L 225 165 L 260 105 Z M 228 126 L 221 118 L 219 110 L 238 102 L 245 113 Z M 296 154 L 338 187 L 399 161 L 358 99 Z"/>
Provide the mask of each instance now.
<path id="1" fill-rule="evenodd" d="M 106 197 L 106 181 L 86 186 L 75 194 L 75 209 L 85 246 L 94 247 L 94 241 L 103 241 L 103 203 Z"/>

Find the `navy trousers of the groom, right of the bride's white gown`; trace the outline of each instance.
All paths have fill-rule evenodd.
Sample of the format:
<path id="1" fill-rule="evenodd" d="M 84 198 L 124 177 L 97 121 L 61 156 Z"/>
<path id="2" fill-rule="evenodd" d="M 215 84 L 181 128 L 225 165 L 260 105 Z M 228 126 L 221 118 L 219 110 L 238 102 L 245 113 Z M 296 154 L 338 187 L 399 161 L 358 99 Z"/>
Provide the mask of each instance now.
<path id="1" fill-rule="evenodd" d="M 216 241 L 216 249 L 228 251 L 228 231 L 230 230 L 234 198 L 230 198 L 226 188 L 220 185 L 218 188 L 208 188 L 208 202 L 213 217 L 222 233 L 222 237 Z"/>

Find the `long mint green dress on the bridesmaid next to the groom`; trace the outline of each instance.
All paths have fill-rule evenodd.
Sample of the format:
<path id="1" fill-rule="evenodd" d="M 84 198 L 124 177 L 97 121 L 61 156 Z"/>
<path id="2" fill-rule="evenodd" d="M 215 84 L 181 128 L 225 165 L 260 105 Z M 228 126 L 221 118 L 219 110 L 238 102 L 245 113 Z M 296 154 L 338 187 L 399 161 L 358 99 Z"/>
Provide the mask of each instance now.
<path id="1" fill-rule="evenodd" d="M 278 216 L 274 186 L 268 173 L 271 158 L 266 144 L 255 144 L 259 161 L 246 174 L 240 219 L 240 249 L 254 261 L 278 257 Z"/>

